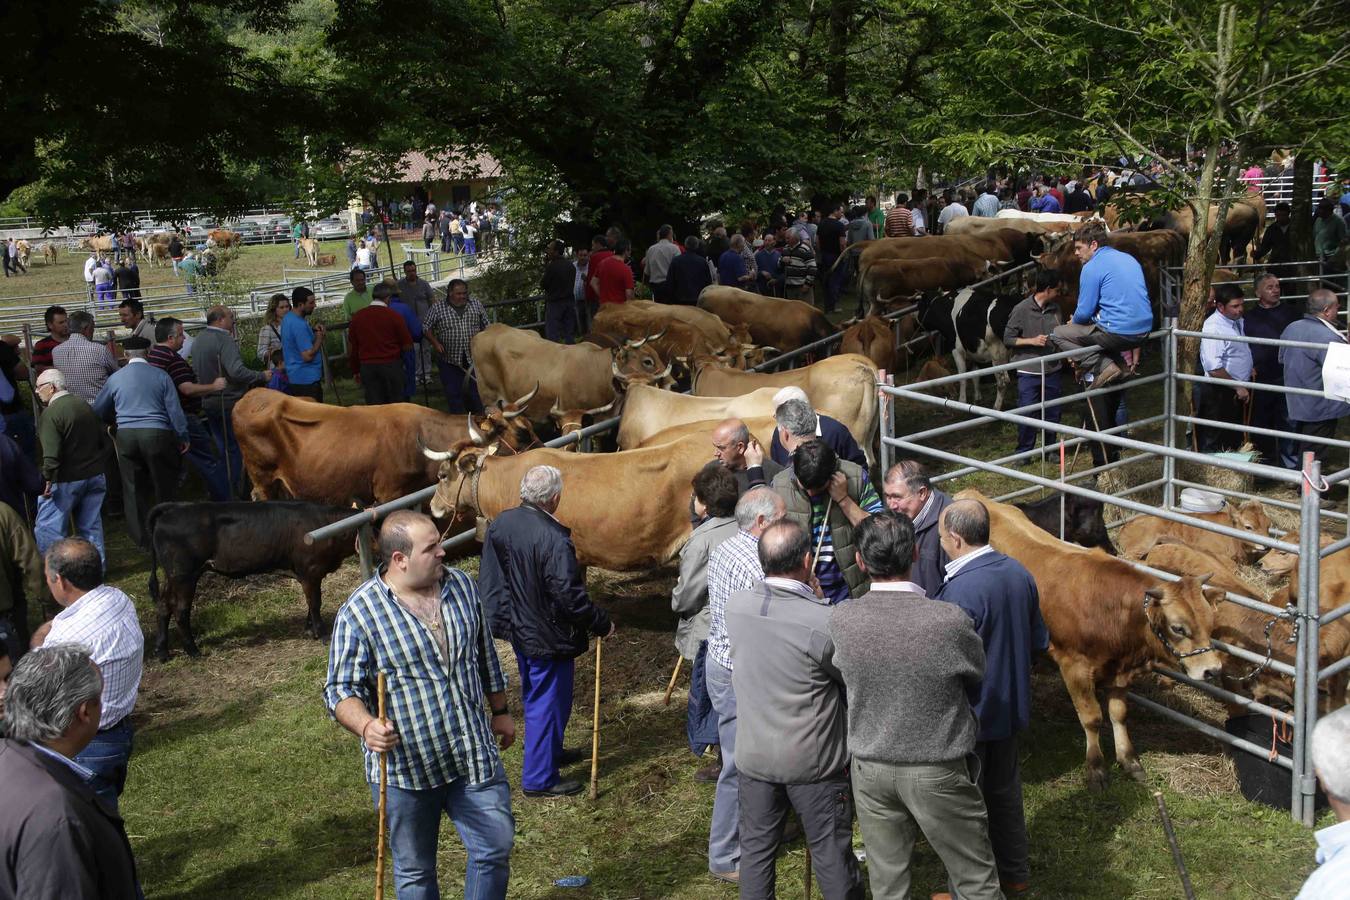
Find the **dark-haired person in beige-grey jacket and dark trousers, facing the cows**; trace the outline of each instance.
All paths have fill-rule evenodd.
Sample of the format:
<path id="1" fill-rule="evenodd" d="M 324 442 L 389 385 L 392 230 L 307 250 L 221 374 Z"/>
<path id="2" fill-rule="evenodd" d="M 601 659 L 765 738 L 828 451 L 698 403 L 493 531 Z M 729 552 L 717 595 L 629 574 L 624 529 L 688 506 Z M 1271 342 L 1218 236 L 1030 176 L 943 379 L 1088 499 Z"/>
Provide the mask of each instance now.
<path id="1" fill-rule="evenodd" d="M 703 756 L 709 746 L 717 746 L 717 711 L 707 696 L 705 680 L 707 665 L 707 557 L 713 548 L 736 534 L 736 499 L 740 495 L 736 476 L 725 466 L 705 466 L 694 476 L 694 515 L 698 524 L 679 552 L 679 579 L 671 592 L 671 609 L 679 614 L 675 629 L 675 649 L 693 663 L 688 684 L 688 715 L 686 730 L 688 749 Z M 694 777 L 717 781 L 722 761 L 713 761 Z"/>

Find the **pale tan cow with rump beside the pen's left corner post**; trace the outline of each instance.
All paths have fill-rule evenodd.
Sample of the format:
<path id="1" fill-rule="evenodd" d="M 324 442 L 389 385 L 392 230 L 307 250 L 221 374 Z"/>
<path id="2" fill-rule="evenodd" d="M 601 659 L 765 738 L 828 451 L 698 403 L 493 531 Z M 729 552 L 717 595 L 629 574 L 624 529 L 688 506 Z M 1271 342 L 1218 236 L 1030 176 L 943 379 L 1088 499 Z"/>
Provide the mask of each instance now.
<path id="1" fill-rule="evenodd" d="M 844 354 L 783 372 L 741 372 L 711 360 L 694 362 L 698 397 L 738 397 L 760 387 L 794 385 L 806 391 L 811 406 L 844 422 L 863 448 L 868 464 L 875 464 L 876 383 L 880 372 L 867 356 Z"/>

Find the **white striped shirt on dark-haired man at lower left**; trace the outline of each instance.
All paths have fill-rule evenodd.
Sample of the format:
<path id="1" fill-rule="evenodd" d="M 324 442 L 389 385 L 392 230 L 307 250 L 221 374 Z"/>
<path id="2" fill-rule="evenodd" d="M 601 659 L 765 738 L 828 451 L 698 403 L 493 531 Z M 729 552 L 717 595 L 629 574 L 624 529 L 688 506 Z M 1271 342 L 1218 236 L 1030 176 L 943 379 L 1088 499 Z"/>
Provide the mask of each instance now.
<path id="1" fill-rule="evenodd" d="M 89 650 L 103 673 L 100 729 L 131 715 L 140 691 L 146 638 L 130 596 L 111 584 L 100 584 L 57 613 L 43 644 L 80 644 Z"/>

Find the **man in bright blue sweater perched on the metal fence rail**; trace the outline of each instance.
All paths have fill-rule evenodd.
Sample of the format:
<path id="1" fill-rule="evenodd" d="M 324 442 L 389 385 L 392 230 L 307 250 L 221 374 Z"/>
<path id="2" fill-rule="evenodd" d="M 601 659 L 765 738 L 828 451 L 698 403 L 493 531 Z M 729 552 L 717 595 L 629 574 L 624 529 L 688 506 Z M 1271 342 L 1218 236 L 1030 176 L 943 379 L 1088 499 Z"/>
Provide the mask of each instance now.
<path id="1" fill-rule="evenodd" d="M 1153 306 L 1139 260 L 1104 246 L 1103 240 L 1106 228 L 1099 223 L 1084 225 L 1073 235 L 1073 252 L 1083 262 L 1079 305 L 1072 321 L 1050 335 L 1054 352 L 1094 348 L 1075 358 L 1079 371 L 1088 374 L 1085 382 L 1094 382 L 1095 374 L 1094 387 L 1106 387 L 1125 375 L 1119 354 L 1139 347 L 1153 328 Z M 1103 351 L 1108 358 L 1104 366 Z"/>

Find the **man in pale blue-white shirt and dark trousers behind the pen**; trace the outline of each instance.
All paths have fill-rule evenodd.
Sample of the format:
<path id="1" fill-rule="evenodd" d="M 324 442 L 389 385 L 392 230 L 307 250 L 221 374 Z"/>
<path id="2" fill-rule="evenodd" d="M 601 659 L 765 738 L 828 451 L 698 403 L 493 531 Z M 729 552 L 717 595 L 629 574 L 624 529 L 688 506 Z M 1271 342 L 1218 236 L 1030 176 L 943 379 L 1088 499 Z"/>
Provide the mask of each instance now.
<path id="1" fill-rule="evenodd" d="M 1215 289 L 1215 310 L 1204 320 L 1204 333 L 1215 337 L 1200 341 L 1200 368 L 1210 378 L 1235 382 L 1251 381 L 1251 345 L 1238 340 L 1242 336 L 1242 287 L 1237 283 Z M 1246 387 L 1204 385 L 1196 407 L 1200 418 L 1241 425 L 1251 402 Z M 1230 428 L 1199 426 L 1202 453 L 1234 451 L 1242 445 L 1242 432 Z"/>

